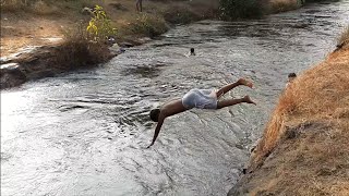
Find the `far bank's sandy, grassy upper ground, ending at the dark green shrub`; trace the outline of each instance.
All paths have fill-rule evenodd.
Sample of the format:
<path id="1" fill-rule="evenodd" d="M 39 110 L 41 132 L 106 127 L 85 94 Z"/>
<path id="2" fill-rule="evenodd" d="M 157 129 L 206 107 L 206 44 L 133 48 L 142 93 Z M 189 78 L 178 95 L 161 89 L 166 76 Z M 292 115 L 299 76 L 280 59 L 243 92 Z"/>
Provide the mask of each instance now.
<path id="1" fill-rule="evenodd" d="M 35 1 L 33 1 L 35 2 Z M 203 3 L 205 2 L 205 3 Z M 168 25 L 216 17 L 218 2 L 209 1 L 149 1 L 143 12 L 136 12 L 133 1 L 112 0 L 76 2 L 46 2 L 21 4 L 14 1 L 1 8 L 1 56 L 16 52 L 25 46 L 60 42 L 64 34 L 86 26 L 91 14 L 84 8 L 99 4 L 117 28 L 118 41 L 132 41 L 165 33 Z"/>

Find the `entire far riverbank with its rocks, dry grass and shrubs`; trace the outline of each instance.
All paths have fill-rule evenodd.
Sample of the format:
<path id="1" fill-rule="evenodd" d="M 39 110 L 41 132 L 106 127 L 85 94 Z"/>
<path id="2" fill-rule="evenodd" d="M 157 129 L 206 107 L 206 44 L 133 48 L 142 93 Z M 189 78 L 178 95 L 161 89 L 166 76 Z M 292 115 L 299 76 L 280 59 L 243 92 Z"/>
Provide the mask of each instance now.
<path id="1" fill-rule="evenodd" d="M 112 35 L 118 44 L 140 45 L 148 40 L 144 37 L 156 37 L 172 24 L 204 19 L 261 16 L 272 13 L 270 9 L 268 12 L 265 9 L 280 1 L 288 3 L 286 7 L 289 8 L 296 2 L 149 0 L 143 2 L 143 12 L 140 13 L 131 0 L 1 0 L 1 57 L 9 57 L 24 47 L 46 46 L 39 49 L 43 51 L 33 51 L 24 54 L 24 58 L 1 61 L 17 63 L 11 68 L 3 66 L 7 70 L 1 73 L 1 88 L 17 86 L 32 78 L 45 77 L 46 74 L 55 75 L 106 62 L 118 53 L 109 49 L 108 35 Z M 83 12 L 85 8 L 96 8 L 97 4 L 107 13 L 107 16 L 100 14 L 101 20 L 96 16 L 96 12 Z M 87 26 L 89 34 L 86 35 Z M 12 72 L 13 69 L 16 71 Z"/>

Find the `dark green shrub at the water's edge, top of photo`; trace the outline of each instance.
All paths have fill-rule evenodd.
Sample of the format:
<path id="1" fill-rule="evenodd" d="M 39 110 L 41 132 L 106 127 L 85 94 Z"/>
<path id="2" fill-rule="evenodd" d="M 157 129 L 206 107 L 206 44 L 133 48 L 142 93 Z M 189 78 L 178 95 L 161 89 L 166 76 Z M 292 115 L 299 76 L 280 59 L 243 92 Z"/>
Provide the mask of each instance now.
<path id="1" fill-rule="evenodd" d="M 220 0 L 219 3 L 222 20 L 260 17 L 263 14 L 258 0 Z"/>

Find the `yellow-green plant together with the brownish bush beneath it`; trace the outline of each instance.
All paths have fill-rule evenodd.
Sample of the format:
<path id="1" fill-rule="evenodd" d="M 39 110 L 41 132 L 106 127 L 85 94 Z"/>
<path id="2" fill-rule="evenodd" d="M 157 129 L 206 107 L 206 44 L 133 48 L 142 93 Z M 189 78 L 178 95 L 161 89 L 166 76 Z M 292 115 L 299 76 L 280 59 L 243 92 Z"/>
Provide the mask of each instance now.
<path id="1" fill-rule="evenodd" d="M 116 28 L 101 7 L 96 5 L 93 13 L 87 27 L 81 23 L 73 30 L 64 29 L 64 42 L 56 58 L 61 69 L 93 66 L 110 59 L 107 38 L 116 35 Z"/>

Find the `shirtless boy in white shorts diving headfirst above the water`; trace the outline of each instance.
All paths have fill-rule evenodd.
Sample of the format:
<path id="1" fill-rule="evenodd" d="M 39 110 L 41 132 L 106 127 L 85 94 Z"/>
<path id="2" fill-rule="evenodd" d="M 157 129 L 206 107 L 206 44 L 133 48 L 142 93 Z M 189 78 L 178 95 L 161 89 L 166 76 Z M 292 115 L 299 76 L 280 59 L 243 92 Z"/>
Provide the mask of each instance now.
<path id="1" fill-rule="evenodd" d="M 157 125 L 155 128 L 153 142 L 147 148 L 154 145 L 161 130 L 164 120 L 168 117 L 184 112 L 192 108 L 218 110 L 225 107 L 242 102 L 255 105 L 255 102 L 252 101 L 249 96 L 244 96 L 240 99 L 218 100 L 219 97 L 240 85 L 248 86 L 250 88 L 253 87 L 253 84 L 250 81 L 240 78 L 238 82 L 226 85 L 219 90 L 194 88 L 186 93 L 181 99 L 176 99 L 170 102 L 167 102 L 160 109 L 153 109 L 151 111 L 151 119 L 154 122 L 157 122 Z"/>

